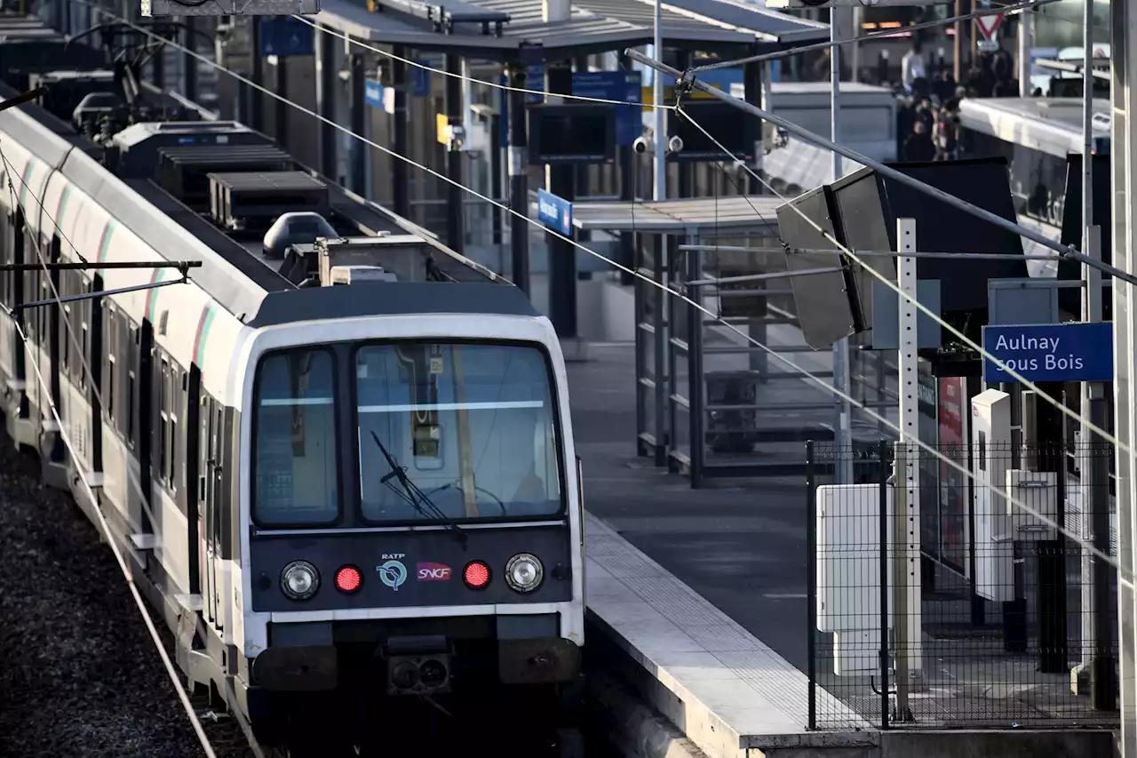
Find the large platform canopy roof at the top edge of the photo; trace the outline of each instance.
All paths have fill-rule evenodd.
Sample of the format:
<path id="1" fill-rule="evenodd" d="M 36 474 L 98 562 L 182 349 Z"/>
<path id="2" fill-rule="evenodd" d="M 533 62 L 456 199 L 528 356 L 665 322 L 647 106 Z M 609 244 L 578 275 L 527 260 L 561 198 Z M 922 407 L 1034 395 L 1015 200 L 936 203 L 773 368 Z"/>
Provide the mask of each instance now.
<path id="1" fill-rule="evenodd" d="M 541 0 L 322 0 L 321 26 L 379 44 L 485 60 L 557 60 L 649 44 L 654 0 L 574 0 L 565 20 L 545 22 Z M 677 47 L 777 49 L 829 38 L 829 26 L 760 3 L 678 0 L 663 10 Z"/>

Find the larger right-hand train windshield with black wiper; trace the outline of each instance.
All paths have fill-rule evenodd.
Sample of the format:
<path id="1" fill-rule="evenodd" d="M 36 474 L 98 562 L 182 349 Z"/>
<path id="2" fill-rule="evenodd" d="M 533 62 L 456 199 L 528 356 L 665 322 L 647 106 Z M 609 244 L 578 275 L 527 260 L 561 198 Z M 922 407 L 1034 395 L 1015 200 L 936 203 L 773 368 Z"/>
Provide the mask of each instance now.
<path id="1" fill-rule="evenodd" d="M 359 347 L 354 363 L 365 520 L 528 519 L 561 512 L 551 371 L 540 349 L 384 343 Z M 405 478 L 392 476 L 392 463 L 406 471 Z M 433 506 L 422 504 L 418 493 Z"/>

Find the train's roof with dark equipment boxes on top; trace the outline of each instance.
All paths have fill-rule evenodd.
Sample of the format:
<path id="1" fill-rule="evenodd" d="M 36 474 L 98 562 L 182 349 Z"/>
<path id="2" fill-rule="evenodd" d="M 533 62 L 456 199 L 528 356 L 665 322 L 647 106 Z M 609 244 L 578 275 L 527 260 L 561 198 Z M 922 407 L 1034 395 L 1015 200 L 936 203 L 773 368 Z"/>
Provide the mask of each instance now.
<path id="1" fill-rule="evenodd" d="M 43 25 L 34 17 L 19 20 L 0 15 L 0 28 L 8 40 L 25 34 L 22 39 L 34 44 Z M 0 130 L 98 198 L 161 257 L 201 261 L 204 265 L 191 271 L 191 280 L 242 321 L 279 322 L 289 314 L 289 320 L 300 320 L 387 313 L 395 303 L 413 308 L 400 312 L 431 312 L 435 299 L 446 303 L 449 312 L 456 304 L 478 304 L 480 312 L 487 313 L 520 307 L 495 306 L 493 298 L 479 295 L 464 298 L 453 290 L 439 295 L 422 289 L 439 283 L 433 280 L 400 279 L 384 285 L 412 287 L 417 293 L 395 299 L 345 295 L 343 288 L 339 298 L 298 289 L 300 282 L 283 275 L 262 255 L 267 229 L 280 215 L 293 211 L 319 213 L 343 238 L 412 236 L 420 254 L 432 261 L 433 267 L 426 270 L 447 272 L 441 281 L 449 285 L 490 283 L 498 296 L 515 290 L 501 287 L 505 280 L 450 250 L 433 233 L 321 176 L 267 135 L 238 122 L 217 120 L 200 106 L 147 82 L 135 81 L 136 90 L 124 88 L 122 71 L 90 66 L 92 49 L 84 47 L 78 42 L 69 46 L 55 71 L 31 66 L 25 72 L 18 65 L 0 71 L 0 99 L 17 94 L 20 86 L 48 86 L 43 105 L 0 112 Z M 30 59 L 38 60 L 35 56 Z M 133 99 L 126 94 L 128 89 L 138 92 Z M 90 120 L 84 121 L 88 114 Z M 99 121 L 101 132 L 91 126 L 91 120 Z M 109 130 L 108 122 L 113 124 Z M 302 207 L 293 207 L 297 201 Z M 189 234 L 171 234 L 171 223 Z M 224 261 L 239 277 L 229 266 L 209 265 L 210 261 Z M 327 305 L 325 298 L 339 303 Z M 293 306 L 284 304 L 288 302 Z M 269 313 L 254 319 L 263 308 Z"/>

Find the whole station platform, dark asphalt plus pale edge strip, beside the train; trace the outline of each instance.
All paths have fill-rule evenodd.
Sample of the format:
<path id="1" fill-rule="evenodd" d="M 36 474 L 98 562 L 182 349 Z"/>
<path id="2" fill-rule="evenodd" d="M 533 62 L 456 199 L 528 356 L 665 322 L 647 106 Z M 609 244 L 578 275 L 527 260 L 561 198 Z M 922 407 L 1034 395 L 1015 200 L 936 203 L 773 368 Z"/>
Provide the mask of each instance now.
<path id="1" fill-rule="evenodd" d="M 722 479 L 691 489 L 686 477 L 636 454 L 633 346 L 594 344 L 589 354 L 567 373 L 588 512 L 590 656 L 619 666 L 614 673 L 697 749 L 642 738 L 653 747 L 639 755 L 1110 755 L 1110 731 L 1090 724 L 1021 730 L 1009 718 L 1005 726 L 945 728 L 930 720 L 879 731 L 820 683 L 818 712 L 844 726 L 808 731 L 805 481 Z"/>

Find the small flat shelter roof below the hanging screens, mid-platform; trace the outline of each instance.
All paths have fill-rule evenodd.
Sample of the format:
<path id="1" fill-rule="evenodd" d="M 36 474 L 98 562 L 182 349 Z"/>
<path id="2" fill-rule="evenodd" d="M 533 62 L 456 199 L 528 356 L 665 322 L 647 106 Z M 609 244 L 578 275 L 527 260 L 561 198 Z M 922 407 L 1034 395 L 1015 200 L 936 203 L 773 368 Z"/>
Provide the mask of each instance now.
<path id="1" fill-rule="evenodd" d="M 581 231 L 646 232 L 714 237 L 721 232 L 778 233 L 775 211 L 785 201 L 767 195 L 682 200 L 573 203 Z"/>

